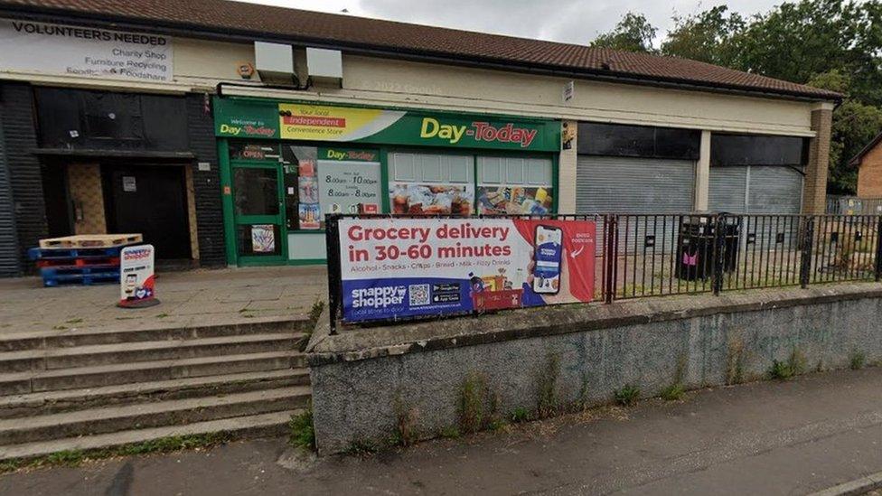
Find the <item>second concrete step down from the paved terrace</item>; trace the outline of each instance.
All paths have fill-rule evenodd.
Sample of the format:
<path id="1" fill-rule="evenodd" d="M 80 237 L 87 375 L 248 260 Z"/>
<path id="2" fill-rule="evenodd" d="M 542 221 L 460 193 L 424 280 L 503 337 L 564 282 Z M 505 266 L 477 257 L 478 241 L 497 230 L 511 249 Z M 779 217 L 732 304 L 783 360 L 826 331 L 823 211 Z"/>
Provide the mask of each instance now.
<path id="1" fill-rule="evenodd" d="M 302 338 L 302 334 L 281 332 L 6 351 L 0 353 L 0 373 L 293 350 Z"/>

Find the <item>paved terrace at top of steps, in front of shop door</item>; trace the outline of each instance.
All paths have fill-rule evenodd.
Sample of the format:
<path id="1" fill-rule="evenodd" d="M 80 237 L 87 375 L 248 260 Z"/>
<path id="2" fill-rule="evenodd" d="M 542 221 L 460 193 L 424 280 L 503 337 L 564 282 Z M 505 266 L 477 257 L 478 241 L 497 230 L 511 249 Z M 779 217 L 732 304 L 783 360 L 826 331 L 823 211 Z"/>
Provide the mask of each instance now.
<path id="1" fill-rule="evenodd" d="M 0 279 L 0 332 L 82 328 L 149 328 L 192 323 L 239 323 L 259 317 L 308 314 L 327 300 L 324 267 L 253 267 L 160 272 L 162 304 L 117 308 L 119 285 L 43 287 L 39 277 Z"/>

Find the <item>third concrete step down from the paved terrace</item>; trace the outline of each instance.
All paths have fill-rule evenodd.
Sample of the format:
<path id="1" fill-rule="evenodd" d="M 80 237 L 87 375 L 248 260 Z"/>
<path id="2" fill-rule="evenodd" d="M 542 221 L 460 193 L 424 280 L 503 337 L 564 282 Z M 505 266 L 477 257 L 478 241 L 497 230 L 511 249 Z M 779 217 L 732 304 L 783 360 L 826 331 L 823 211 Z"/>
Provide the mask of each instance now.
<path id="1" fill-rule="evenodd" d="M 72 369 L 0 374 L 0 395 L 62 389 L 98 388 L 157 380 L 171 380 L 305 367 L 299 351 L 272 351 L 183 360 L 137 361 Z"/>

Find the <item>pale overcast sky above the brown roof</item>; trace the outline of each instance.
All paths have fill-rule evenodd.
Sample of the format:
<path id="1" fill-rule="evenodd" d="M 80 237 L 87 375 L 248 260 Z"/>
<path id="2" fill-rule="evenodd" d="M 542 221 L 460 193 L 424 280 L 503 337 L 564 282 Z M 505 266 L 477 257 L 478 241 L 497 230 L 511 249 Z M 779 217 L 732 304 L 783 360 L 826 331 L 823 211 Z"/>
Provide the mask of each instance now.
<path id="1" fill-rule="evenodd" d="M 555 42 L 587 44 L 610 30 L 622 14 L 640 12 L 660 29 L 671 15 L 694 14 L 727 4 L 741 14 L 767 11 L 781 0 L 245 0 L 258 4 L 377 17 Z M 658 43 L 658 40 L 656 41 Z"/>

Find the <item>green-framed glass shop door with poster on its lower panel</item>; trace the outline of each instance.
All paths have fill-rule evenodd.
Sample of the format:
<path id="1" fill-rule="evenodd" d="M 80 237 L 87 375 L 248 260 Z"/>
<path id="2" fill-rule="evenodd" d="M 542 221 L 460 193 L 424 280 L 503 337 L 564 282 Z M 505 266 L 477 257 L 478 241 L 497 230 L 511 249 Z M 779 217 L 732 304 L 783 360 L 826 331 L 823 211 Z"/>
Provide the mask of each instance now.
<path id="1" fill-rule="evenodd" d="M 284 182 L 278 164 L 232 165 L 233 219 L 240 266 L 286 261 Z"/>

